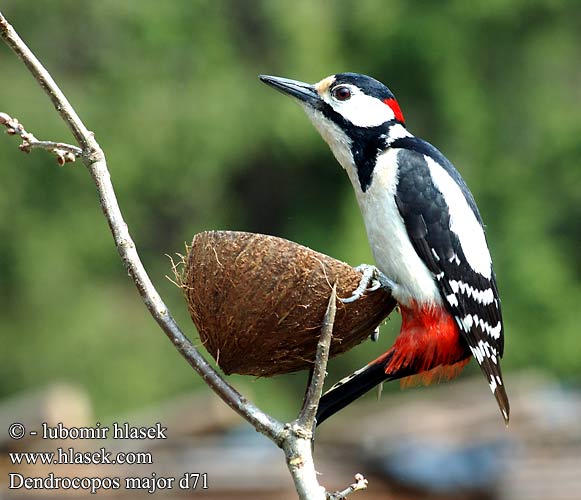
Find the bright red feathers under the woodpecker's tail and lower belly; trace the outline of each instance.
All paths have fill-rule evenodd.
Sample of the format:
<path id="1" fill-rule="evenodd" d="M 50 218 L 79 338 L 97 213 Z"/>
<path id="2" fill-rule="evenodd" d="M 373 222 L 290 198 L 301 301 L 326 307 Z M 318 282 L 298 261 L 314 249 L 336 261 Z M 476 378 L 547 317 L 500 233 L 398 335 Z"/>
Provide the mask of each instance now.
<path id="1" fill-rule="evenodd" d="M 416 375 L 425 373 L 423 377 L 414 377 L 424 384 L 457 375 L 470 356 L 450 313 L 440 306 L 414 303 L 411 307 L 400 307 L 401 330 L 388 351 L 391 359 L 385 372 L 395 375 L 411 368 Z"/>

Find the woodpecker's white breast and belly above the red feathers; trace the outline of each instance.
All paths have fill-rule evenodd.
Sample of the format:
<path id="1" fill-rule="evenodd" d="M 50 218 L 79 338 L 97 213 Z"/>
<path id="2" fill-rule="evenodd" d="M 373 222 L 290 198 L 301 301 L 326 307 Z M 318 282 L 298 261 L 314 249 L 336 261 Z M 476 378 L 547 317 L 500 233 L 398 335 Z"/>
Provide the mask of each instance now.
<path id="1" fill-rule="evenodd" d="M 395 204 L 396 154 L 396 150 L 388 150 L 378 159 L 366 192 L 361 191 L 358 180 L 353 183 L 367 237 L 377 267 L 397 283 L 392 294 L 399 303 L 441 304 L 434 276 L 413 248 Z"/>

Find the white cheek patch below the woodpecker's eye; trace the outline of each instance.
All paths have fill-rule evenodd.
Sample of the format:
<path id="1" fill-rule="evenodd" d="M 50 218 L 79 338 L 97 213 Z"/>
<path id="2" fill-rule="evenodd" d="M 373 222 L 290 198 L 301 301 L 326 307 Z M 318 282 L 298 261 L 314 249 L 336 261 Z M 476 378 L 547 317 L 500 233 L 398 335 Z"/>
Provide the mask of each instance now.
<path id="1" fill-rule="evenodd" d="M 347 101 L 337 101 L 329 95 L 323 99 L 345 119 L 357 127 L 377 127 L 393 120 L 393 110 L 381 100 L 362 94 L 350 87 L 352 95 Z"/>

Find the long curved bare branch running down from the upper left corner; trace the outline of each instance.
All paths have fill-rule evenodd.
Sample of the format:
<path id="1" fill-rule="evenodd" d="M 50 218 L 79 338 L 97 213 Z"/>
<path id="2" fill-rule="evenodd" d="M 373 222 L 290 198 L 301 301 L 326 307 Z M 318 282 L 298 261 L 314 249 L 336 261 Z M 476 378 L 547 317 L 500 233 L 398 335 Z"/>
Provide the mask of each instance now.
<path id="1" fill-rule="evenodd" d="M 222 379 L 218 372 L 208 364 L 194 344 L 180 330 L 153 286 L 139 258 L 135 243 L 131 239 L 127 224 L 123 220 L 117 197 L 115 196 L 105 161 L 105 154 L 95 140 L 94 134 L 85 127 L 48 71 L 46 71 L 40 61 L 18 36 L 1 12 L 0 36 L 24 62 L 35 80 L 40 83 L 46 94 L 50 97 L 57 112 L 69 126 L 75 139 L 81 145 L 83 149 L 83 161 L 97 186 L 101 208 L 113 233 L 119 255 L 153 318 L 161 326 L 162 330 L 190 366 L 200 374 L 206 384 L 234 411 L 254 426 L 256 430 L 265 434 L 280 446 L 283 425 L 246 400 L 236 389 Z"/>

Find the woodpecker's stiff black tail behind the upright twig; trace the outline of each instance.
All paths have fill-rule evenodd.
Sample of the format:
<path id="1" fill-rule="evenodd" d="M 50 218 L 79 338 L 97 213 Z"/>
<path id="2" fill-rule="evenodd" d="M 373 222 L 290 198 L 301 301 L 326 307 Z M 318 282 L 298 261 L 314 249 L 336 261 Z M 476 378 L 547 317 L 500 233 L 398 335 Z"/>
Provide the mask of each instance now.
<path id="1" fill-rule="evenodd" d="M 323 394 L 317 410 L 317 425 L 320 425 L 331 415 L 342 410 L 375 386 L 393 378 L 393 376 L 385 374 L 385 362 L 380 362 L 369 364 L 341 380 Z"/>

